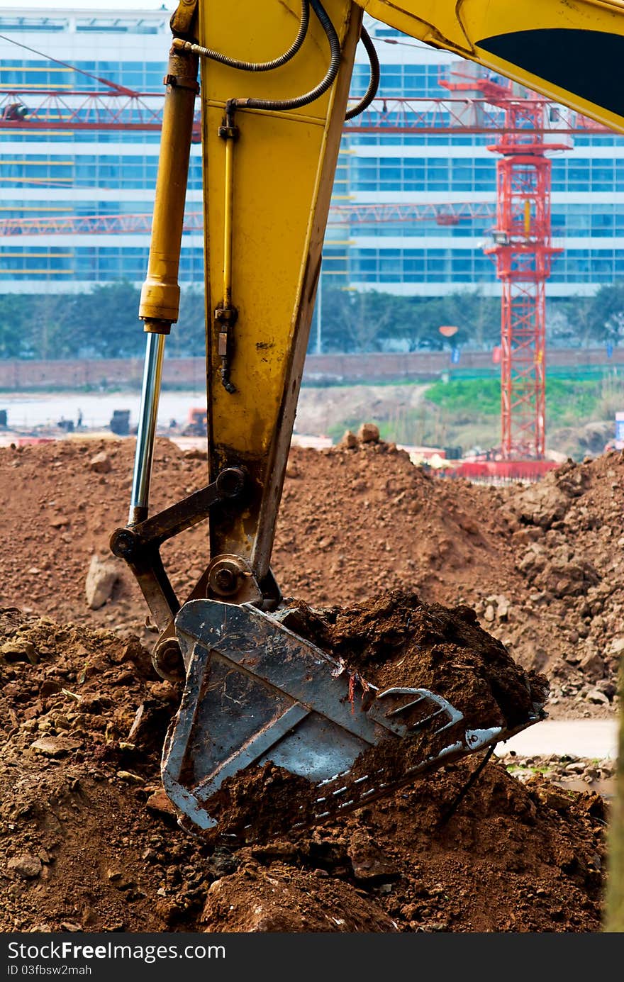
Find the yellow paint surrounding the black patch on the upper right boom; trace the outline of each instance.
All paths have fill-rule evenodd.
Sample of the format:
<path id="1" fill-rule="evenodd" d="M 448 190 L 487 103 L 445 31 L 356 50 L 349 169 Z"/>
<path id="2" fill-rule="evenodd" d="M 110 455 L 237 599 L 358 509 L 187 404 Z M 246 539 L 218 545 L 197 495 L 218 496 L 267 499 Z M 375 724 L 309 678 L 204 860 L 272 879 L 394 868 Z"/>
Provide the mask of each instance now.
<path id="1" fill-rule="evenodd" d="M 372 17 L 421 38 L 433 47 L 455 51 L 533 91 L 576 109 L 604 126 L 624 132 L 624 113 L 584 98 L 534 75 L 480 47 L 486 38 L 536 29 L 601 31 L 624 36 L 624 3 L 618 0 L 356 0 Z M 555 54 L 553 50 L 553 55 Z M 565 51 L 556 52 L 565 58 Z M 603 71 L 604 65 L 584 61 L 576 75 Z M 610 69 L 617 85 L 619 65 Z M 608 101 L 608 100 L 607 100 Z"/>

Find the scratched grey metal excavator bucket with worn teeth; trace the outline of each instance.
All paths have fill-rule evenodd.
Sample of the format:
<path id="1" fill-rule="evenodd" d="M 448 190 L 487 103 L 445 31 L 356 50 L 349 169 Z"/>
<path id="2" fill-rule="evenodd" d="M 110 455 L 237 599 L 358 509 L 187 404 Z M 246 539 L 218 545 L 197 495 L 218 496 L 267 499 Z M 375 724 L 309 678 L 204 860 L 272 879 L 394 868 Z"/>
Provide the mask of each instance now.
<path id="1" fill-rule="evenodd" d="M 307 779 L 301 824 L 322 822 L 543 715 L 534 706 L 513 731 L 471 729 L 439 693 L 380 691 L 285 627 L 279 615 L 250 604 L 190 601 L 176 632 L 187 679 L 165 741 L 162 781 L 200 829 L 218 824 L 211 798 L 248 768 L 271 762 Z M 374 759 L 371 748 L 381 744 L 390 752 Z"/>

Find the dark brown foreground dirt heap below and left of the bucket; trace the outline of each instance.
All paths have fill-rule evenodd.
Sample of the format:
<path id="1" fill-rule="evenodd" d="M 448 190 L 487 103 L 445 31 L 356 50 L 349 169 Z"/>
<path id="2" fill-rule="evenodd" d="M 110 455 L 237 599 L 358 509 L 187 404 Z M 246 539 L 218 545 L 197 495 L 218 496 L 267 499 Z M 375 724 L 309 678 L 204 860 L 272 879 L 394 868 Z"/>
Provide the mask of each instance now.
<path id="1" fill-rule="evenodd" d="M 314 629 L 346 651 L 349 627 L 366 621 L 358 657 L 382 673 L 384 643 L 406 642 L 406 606 L 395 595 L 315 615 Z M 424 608 L 419 630 L 436 616 L 445 636 L 458 623 Z M 474 654 L 479 628 L 464 623 Z M 490 762 L 453 811 L 469 758 L 329 824 L 237 847 L 218 830 L 181 829 L 160 789 L 180 692 L 153 675 L 136 637 L 14 608 L 0 617 L 0 656 L 5 932 L 600 929 L 607 814 L 596 792 L 521 782 Z"/>

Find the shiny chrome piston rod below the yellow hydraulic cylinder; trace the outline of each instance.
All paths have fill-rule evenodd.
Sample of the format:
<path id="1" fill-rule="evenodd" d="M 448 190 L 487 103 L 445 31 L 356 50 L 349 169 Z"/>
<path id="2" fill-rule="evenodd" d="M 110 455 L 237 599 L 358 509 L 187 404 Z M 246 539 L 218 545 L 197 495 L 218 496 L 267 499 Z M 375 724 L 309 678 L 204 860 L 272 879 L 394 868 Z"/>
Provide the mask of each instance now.
<path id="1" fill-rule="evenodd" d="M 133 474 L 129 524 L 137 524 L 147 518 L 149 479 L 156 436 L 158 400 L 162 377 L 162 356 L 165 350 L 164 334 L 147 334 L 145 364 L 141 394 L 141 410 L 137 431 L 135 471 Z"/>

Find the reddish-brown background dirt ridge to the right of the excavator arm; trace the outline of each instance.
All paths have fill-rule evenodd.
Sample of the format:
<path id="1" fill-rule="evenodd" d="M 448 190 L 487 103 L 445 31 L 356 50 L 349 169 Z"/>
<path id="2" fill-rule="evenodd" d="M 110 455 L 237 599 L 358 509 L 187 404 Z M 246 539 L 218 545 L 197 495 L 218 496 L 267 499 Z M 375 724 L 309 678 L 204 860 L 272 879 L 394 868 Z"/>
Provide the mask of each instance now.
<path id="1" fill-rule="evenodd" d="M 353 603 L 408 587 L 473 607 L 553 718 L 617 712 L 624 650 L 624 455 L 568 462 L 538 484 L 440 480 L 392 445 L 292 454 L 273 568 L 285 592 Z"/>

